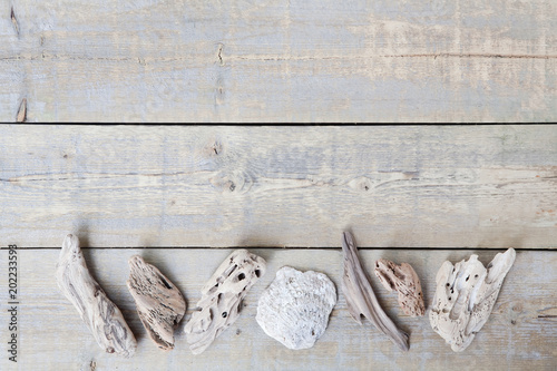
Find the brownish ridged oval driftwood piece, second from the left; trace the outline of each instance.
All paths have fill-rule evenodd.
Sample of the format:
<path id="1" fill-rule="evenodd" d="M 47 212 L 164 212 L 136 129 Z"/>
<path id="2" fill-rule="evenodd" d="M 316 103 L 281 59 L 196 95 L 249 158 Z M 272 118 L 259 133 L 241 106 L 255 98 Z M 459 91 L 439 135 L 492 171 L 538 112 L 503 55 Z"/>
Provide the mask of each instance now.
<path id="1" fill-rule="evenodd" d="M 129 258 L 128 290 L 150 339 L 162 350 L 174 349 L 174 330 L 186 313 L 186 301 L 174 283 L 139 255 Z"/>

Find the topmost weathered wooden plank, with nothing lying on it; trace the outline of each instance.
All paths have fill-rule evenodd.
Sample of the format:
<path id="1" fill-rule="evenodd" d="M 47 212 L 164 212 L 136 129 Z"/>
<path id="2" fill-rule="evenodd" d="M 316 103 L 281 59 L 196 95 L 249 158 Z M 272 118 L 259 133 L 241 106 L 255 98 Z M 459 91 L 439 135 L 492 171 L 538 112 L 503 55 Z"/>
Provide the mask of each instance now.
<path id="1" fill-rule="evenodd" d="M 22 97 L 29 121 L 549 121 L 556 13 L 554 0 L 3 1 L 0 121 Z"/>

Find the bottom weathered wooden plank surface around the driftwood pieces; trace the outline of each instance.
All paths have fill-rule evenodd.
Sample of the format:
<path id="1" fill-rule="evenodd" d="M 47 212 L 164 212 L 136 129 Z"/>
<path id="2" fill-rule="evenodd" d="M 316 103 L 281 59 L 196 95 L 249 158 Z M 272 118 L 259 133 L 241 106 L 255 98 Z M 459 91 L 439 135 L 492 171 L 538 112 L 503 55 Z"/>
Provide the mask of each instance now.
<path id="1" fill-rule="evenodd" d="M 137 315 L 126 287 L 126 262 L 135 254 L 156 266 L 172 280 L 183 294 L 196 302 L 201 289 L 231 250 L 96 250 L 84 248 L 91 272 L 107 294 L 121 309 L 137 336 L 138 349 L 130 359 L 100 350 L 75 309 L 59 293 L 51 279 L 56 271 L 58 250 L 19 251 L 20 285 L 20 357 L 21 370 L 447 370 L 468 369 L 471 364 L 489 370 L 555 370 L 557 367 L 557 254 L 550 251 L 518 251 L 494 312 L 475 341 L 462 353 L 453 353 L 433 332 L 427 316 L 410 318 L 399 312 L 397 297 L 371 279 L 382 306 L 397 323 L 410 333 L 410 351 L 401 352 L 371 324 L 359 325 L 350 318 L 345 296 L 339 290 L 342 277 L 342 253 L 339 250 L 251 250 L 267 261 L 267 274 L 255 284 L 245 299 L 245 306 L 235 324 L 223 332 L 199 355 L 187 348 L 185 334 L 176 331 L 176 346 L 163 353 L 153 346 Z M 426 304 L 434 294 L 436 272 L 442 262 L 458 262 L 478 253 L 482 263 L 492 260 L 496 251 L 361 251 L 364 269 L 372 272 L 378 258 L 412 264 L 422 279 Z M 0 266 L 8 264 L 8 252 L 0 251 Z M 284 265 L 297 270 L 325 273 L 336 285 L 339 302 L 331 314 L 328 330 L 309 350 L 292 351 L 265 335 L 255 321 L 257 300 Z M 41 266 L 41 270 L 37 270 Z M 0 284 L 0 302 L 7 302 L 6 281 Z M 192 305 L 193 306 L 193 305 Z M 182 321 L 189 320 L 192 309 Z M 9 313 L 0 312 L 0 323 Z M 7 326 L 0 338 L 7 339 Z M 2 343 L 4 341 L 2 340 Z M 6 344 L 0 345 L 6 353 Z M 0 369 L 16 365 L 0 358 Z"/>

